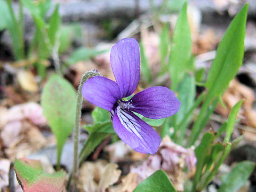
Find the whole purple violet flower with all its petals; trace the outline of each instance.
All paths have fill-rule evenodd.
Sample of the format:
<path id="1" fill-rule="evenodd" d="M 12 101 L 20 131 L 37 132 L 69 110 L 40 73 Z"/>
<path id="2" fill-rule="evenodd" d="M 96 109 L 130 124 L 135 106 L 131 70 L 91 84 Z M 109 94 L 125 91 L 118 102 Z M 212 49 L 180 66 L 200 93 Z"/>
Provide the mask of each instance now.
<path id="1" fill-rule="evenodd" d="M 177 113 L 180 107 L 175 93 L 162 86 L 149 87 L 129 97 L 140 81 L 140 48 L 133 38 L 124 38 L 110 53 L 116 82 L 101 76 L 88 79 L 82 86 L 83 97 L 110 112 L 113 128 L 127 145 L 140 153 L 155 154 L 161 142 L 158 133 L 135 113 L 159 119 Z"/>

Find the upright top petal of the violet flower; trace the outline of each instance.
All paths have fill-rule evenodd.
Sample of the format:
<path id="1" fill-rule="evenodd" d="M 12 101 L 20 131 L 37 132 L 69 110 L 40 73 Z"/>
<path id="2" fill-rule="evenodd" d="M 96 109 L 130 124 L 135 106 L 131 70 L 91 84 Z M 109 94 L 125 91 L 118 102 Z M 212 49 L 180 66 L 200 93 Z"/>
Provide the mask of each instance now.
<path id="1" fill-rule="evenodd" d="M 122 97 L 130 96 L 140 81 L 140 48 L 134 38 L 124 38 L 114 45 L 110 63 Z"/>

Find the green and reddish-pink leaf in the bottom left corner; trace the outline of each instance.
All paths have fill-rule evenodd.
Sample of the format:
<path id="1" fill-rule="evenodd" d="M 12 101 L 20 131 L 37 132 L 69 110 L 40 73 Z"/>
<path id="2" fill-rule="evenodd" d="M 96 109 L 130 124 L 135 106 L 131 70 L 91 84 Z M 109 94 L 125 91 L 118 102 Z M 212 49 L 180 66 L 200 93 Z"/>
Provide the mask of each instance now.
<path id="1" fill-rule="evenodd" d="M 16 159 L 14 169 L 24 192 L 61 192 L 65 187 L 65 172 L 45 173 L 40 161 Z"/>

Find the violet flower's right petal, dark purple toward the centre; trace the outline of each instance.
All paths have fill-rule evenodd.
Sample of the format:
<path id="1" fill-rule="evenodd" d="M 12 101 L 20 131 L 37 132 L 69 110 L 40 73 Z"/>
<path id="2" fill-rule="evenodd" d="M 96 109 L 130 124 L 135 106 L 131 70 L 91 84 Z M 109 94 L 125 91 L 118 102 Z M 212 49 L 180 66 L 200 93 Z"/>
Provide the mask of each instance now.
<path id="1" fill-rule="evenodd" d="M 170 117 L 180 107 L 175 93 L 162 86 L 149 87 L 135 94 L 128 102 L 132 106 L 130 110 L 152 119 Z"/>

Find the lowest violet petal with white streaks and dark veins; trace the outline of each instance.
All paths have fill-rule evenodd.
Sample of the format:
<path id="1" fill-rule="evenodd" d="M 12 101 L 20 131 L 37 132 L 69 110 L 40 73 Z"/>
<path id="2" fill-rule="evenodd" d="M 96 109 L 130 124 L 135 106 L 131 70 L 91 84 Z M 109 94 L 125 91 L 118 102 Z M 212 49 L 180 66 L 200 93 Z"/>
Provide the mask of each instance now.
<path id="1" fill-rule="evenodd" d="M 155 154 L 161 142 L 158 133 L 131 111 L 119 106 L 113 117 L 113 128 L 127 145 L 140 153 Z"/>

